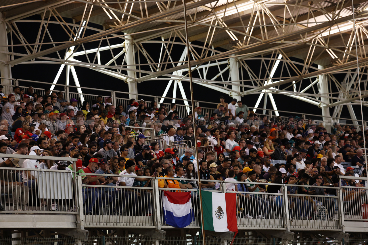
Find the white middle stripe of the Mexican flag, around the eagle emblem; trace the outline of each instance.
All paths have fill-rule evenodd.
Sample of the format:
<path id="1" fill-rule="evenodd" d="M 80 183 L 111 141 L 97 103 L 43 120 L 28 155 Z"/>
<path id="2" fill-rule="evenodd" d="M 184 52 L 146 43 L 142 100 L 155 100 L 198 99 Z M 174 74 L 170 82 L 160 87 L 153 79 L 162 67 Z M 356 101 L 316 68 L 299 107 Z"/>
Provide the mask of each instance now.
<path id="1" fill-rule="evenodd" d="M 222 208 L 223 215 L 218 219 L 215 215 L 217 207 Z M 213 229 L 218 232 L 229 231 L 227 228 L 226 199 L 224 193 L 212 192 L 212 220 Z"/>

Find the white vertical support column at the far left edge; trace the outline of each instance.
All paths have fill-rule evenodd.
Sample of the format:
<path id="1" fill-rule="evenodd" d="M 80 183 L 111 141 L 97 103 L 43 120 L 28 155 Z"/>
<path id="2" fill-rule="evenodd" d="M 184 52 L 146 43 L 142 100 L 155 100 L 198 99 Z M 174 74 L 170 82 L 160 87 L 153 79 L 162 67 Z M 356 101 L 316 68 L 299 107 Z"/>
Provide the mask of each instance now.
<path id="1" fill-rule="evenodd" d="M 8 47 L 6 47 L 6 45 L 8 45 L 8 33 L 6 32 L 6 23 L 3 19 L 3 13 L 0 13 L 0 43 L 1 46 L 3 46 L 0 47 L 0 75 L 1 77 L 11 78 L 11 67 L 4 63 L 10 61 L 10 56 L 3 53 L 9 51 Z M 1 79 L 1 84 L 3 86 L 13 85 L 10 79 Z"/>

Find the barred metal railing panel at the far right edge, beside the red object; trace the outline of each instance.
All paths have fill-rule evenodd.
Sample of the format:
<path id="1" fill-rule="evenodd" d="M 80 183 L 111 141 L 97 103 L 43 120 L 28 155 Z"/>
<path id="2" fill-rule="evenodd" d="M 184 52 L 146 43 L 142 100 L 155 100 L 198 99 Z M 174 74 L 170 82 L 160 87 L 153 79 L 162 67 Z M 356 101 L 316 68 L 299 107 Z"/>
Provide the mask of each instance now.
<path id="1" fill-rule="evenodd" d="M 341 187 L 344 220 L 368 221 L 367 189 L 367 187 Z"/>

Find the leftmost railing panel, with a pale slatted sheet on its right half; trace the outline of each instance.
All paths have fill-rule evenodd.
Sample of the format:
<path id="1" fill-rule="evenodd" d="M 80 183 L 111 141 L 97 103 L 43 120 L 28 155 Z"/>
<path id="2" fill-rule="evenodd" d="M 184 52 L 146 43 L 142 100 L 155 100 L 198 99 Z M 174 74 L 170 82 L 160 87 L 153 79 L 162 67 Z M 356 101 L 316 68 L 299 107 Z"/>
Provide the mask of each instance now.
<path id="1" fill-rule="evenodd" d="M 35 180 L 22 180 L 19 171 L 28 171 Z M 72 171 L 29 168 L 0 168 L 1 204 L 8 213 L 76 214 Z"/>

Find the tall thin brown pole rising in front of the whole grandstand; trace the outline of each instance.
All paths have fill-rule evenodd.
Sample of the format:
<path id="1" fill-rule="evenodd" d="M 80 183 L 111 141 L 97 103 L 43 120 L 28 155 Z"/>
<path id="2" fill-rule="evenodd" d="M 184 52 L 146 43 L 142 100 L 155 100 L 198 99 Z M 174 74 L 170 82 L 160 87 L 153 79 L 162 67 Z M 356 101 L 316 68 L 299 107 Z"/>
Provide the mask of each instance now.
<path id="1" fill-rule="evenodd" d="M 185 23 L 185 39 L 186 39 L 186 46 L 187 46 L 187 54 L 188 54 L 188 75 L 189 75 L 189 84 L 190 84 L 190 97 L 192 101 L 192 119 L 193 119 L 193 133 L 194 133 L 194 146 L 195 146 L 195 155 L 197 157 L 197 169 L 199 171 L 199 159 L 198 159 L 198 146 L 197 146 L 197 137 L 196 137 L 196 129 L 195 129 L 195 113 L 194 113 L 194 96 L 193 96 L 193 81 L 192 81 L 192 69 L 190 64 L 190 49 L 189 49 L 189 40 L 188 40 L 188 22 L 187 22 L 187 7 L 185 0 L 183 0 L 184 5 L 184 23 Z M 202 239 L 203 239 L 203 245 L 206 245 L 205 240 L 205 227 L 204 227 L 204 220 L 203 220 L 203 206 L 202 206 L 202 192 L 201 192 L 201 179 L 198 175 L 198 195 L 199 195 L 199 209 L 201 210 L 201 227 L 202 227 Z"/>

